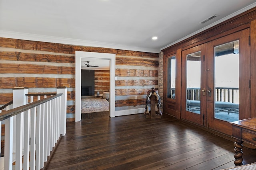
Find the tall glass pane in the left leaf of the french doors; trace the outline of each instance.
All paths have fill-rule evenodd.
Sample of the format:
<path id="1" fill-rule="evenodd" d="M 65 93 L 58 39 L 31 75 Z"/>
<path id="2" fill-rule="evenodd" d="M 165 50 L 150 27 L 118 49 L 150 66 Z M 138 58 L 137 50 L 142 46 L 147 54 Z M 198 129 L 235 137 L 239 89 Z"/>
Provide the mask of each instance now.
<path id="1" fill-rule="evenodd" d="M 186 110 L 200 114 L 201 51 L 186 56 Z"/>

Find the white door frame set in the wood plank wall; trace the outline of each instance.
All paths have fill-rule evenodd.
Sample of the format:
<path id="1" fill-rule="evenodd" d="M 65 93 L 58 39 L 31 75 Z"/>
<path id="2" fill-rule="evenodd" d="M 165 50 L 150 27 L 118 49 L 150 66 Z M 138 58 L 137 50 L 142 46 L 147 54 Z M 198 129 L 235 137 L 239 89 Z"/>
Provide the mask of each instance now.
<path id="1" fill-rule="evenodd" d="M 76 113 L 75 121 L 81 121 L 81 61 L 82 59 L 101 59 L 110 61 L 110 95 L 109 113 L 110 117 L 115 117 L 115 64 L 116 54 L 94 53 L 76 51 Z"/>

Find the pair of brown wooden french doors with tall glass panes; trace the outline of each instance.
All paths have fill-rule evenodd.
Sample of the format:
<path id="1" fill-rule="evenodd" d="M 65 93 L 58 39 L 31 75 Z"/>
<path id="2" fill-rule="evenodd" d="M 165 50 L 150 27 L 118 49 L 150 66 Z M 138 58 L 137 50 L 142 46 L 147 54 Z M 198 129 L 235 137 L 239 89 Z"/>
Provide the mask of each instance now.
<path id="1" fill-rule="evenodd" d="M 250 117 L 249 29 L 182 51 L 181 118 L 232 134 Z"/>

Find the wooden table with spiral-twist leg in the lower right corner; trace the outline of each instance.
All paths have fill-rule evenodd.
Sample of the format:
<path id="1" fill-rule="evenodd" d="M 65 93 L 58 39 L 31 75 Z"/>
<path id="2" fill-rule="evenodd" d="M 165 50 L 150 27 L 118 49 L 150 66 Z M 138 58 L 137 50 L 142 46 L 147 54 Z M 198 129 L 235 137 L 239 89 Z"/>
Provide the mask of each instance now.
<path id="1" fill-rule="evenodd" d="M 230 122 L 232 124 L 232 137 L 234 142 L 235 161 L 236 166 L 242 165 L 243 145 L 248 143 L 256 147 L 256 117 Z"/>

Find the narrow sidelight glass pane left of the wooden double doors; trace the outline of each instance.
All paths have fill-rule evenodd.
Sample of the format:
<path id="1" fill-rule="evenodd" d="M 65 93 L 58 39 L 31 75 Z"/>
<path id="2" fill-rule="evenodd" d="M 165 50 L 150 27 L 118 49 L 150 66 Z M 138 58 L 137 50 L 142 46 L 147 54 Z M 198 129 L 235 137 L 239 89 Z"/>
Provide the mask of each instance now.
<path id="1" fill-rule="evenodd" d="M 167 80 L 167 97 L 175 99 L 175 80 L 176 80 L 176 57 L 169 57 L 167 61 L 168 80 Z"/>

